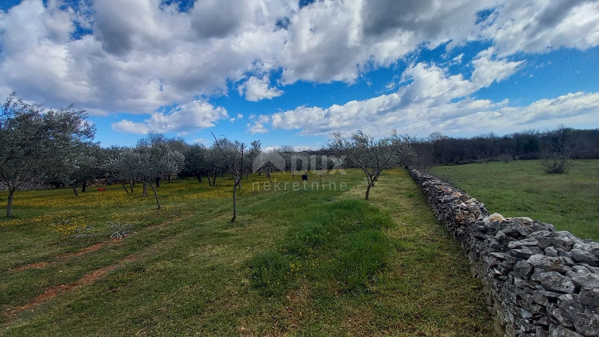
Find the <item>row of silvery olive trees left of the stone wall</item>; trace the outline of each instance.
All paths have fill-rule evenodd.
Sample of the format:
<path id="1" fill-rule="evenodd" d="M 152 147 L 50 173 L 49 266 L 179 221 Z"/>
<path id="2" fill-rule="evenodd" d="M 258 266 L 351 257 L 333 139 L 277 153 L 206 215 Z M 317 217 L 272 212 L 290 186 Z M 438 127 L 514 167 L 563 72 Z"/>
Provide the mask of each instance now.
<path id="1" fill-rule="evenodd" d="M 259 140 L 247 144 L 214 134 L 211 146 L 149 134 L 135 146 L 102 148 L 93 142 L 95 131 L 83 110 L 72 106 L 45 110 L 11 94 L 0 110 L 0 183 L 8 188 L 7 216 L 13 216 L 17 189 L 34 181 L 68 186 L 75 197 L 96 179 L 119 184 L 127 194 L 141 185 L 143 196 L 151 189 L 156 207 L 161 209 L 161 180 L 193 176 L 199 183 L 206 179 L 210 186 L 216 185 L 217 179 L 232 180 L 231 221 L 235 221 L 243 178 L 256 169 L 271 180 L 274 171 L 289 171 L 295 178 L 300 173 L 307 176 L 311 170 L 359 167 L 368 180 L 368 200 L 383 170 L 405 166 L 415 157 L 407 139 L 395 132 L 378 140 L 361 132 L 348 138 L 334 134 L 329 145 L 319 151 L 295 151 L 292 146 L 262 151 Z"/>

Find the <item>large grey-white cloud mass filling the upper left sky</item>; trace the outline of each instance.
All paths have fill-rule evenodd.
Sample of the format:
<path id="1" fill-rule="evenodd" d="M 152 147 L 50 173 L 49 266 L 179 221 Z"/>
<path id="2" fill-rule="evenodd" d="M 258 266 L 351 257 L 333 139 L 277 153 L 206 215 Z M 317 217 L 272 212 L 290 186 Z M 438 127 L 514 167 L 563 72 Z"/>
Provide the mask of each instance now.
<path id="1" fill-rule="evenodd" d="M 219 1 L 222 8 L 236 4 Z M 75 12 L 58 1 L 44 6 L 41 0 L 24 0 L 0 11 L 0 89 L 99 114 L 152 113 L 226 92 L 228 79 L 256 70 L 256 59 L 273 64 L 286 35 L 276 29 L 277 17 L 296 7 L 252 2 L 225 34 L 225 28 L 207 32 L 192 24 L 209 14 L 199 14 L 201 6 L 189 13 L 173 6 L 104 0 Z M 75 37 L 73 22 L 91 22 L 92 32 Z"/>

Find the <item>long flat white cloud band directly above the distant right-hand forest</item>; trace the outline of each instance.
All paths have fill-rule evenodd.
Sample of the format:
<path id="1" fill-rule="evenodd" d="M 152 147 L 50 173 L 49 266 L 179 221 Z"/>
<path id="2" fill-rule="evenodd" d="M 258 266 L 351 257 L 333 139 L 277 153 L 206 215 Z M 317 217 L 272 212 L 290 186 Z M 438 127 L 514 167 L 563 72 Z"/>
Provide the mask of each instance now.
<path id="1" fill-rule="evenodd" d="M 299 129 L 301 135 L 328 135 L 333 131 L 362 130 L 383 136 L 392 128 L 400 133 L 481 134 L 512 133 L 530 128 L 553 128 L 558 124 L 588 127 L 599 115 L 599 92 L 566 94 L 539 100 L 528 106 L 508 106 L 507 100 L 466 98 L 456 103 L 401 107 L 397 94 L 367 101 L 351 101 L 343 106 L 299 107 L 273 116 L 273 128 Z"/>

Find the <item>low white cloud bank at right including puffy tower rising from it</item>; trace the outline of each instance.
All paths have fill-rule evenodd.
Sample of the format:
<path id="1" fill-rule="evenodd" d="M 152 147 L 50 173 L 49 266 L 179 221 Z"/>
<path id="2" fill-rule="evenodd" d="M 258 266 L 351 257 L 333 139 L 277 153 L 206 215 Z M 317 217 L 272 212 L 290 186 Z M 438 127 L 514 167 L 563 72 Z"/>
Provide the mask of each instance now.
<path id="1" fill-rule="evenodd" d="M 349 133 L 363 130 L 382 136 L 390 128 L 411 134 L 431 131 L 447 133 L 510 132 L 541 121 L 558 124 L 568 118 L 599 112 L 599 93 L 568 94 L 540 100 L 525 107 L 509 106 L 509 101 L 476 100 L 470 95 L 492 82 L 515 73 L 522 61 L 507 61 L 480 52 L 471 62 L 470 79 L 435 64 L 418 63 L 407 68 L 397 92 L 364 101 L 350 101 L 327 108 L 301 106 L 276 113 L 271 127 L 298 129 L 302 135 L 327 135 L 334 131 Z"/>

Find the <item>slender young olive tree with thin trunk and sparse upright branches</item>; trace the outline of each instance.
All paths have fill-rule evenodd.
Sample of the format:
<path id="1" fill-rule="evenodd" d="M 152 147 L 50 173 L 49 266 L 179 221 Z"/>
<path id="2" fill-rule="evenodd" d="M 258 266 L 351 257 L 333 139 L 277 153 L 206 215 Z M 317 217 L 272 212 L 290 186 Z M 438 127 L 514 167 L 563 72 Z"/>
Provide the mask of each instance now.
<path id="1" fill-rule="evenodd" d="M 231 222 L 235 222 L 237 219 L 237 190 L 241 189 L 241 179 L 252 173 L 253 163 L 260 153 L 261 144 L 258 140 L 254 140 L 248 148 L 246 143 L 237 140 L 231 142 L 226 138 L 216 139 L 214 134 L 212 136 L 214 145 L 219 149 L 220 155 L 233 176 L 233 217 Z"/>

